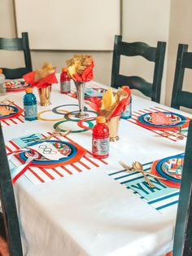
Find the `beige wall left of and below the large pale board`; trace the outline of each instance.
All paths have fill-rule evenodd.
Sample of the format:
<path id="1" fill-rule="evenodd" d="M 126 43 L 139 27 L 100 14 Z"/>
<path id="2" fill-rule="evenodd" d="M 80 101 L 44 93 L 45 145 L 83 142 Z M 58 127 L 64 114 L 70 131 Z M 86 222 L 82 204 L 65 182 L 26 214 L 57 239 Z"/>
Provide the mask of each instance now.
<path id="1" fill-rule="evenodd" d="M 0 38 L 14 38 L 15 19 L 14 19 L 14 0 L 1 0 L 0 7 Z M 35 17 L 34 17 L 35 18 Z M 2 25 L 3 24 L 3 25 Z M 30 34 L 29 43 L 30 43 Z M 80 51 L 78 51 L 80 52 Z M 32 51 L 33 69 L 41 68 L 41 65 L 50 61 L 57 67 L 60 72 L 65 66 L 65 61 L 72 57 L 74 51 Z M 95 60 L 94 80 L 109 85 L 111 83 L 111 63 L 112 54 L 110 51 L 89 51 Z M 11 68 L 24 65 L 23 56 L 19 52 L 0 52 L 0 67 L 9 66 Z"/>

